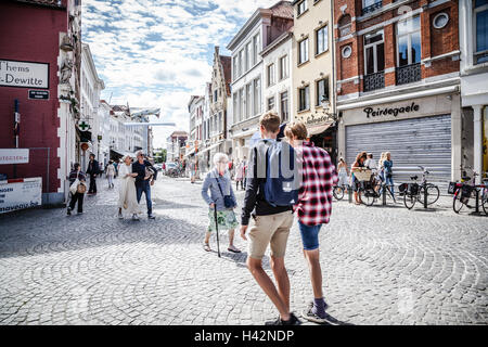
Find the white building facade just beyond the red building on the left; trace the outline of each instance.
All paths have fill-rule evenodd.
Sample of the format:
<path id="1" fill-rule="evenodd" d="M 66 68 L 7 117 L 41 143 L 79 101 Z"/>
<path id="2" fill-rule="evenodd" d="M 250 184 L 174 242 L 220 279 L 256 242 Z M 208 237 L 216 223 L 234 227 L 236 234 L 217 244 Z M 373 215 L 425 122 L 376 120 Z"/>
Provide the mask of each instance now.
<path id="1" fill-rule="evenodd" d="M 100 142 L 102 140 L 102 134 L 100 129 L 101 121 L 99 118 L 100 93 L 103 89 L 105 89 L 105 85 L 103 80 L 99 78 L 90 47 L 87 43 L 81 43 L 80 120 L 82 121 L 81 130 L 86 131 L 84 126 L 88 125 L 89 128 L 86 132 L 90 133 L 87 142 L 81 142 L 89 145 L 87 150 L 82 150 L 82 144 L 79 143 L 79 153 L 81 153 L 80 164 L 84 170 L 87 169 L 89 155 L 91 153 L 95 155 L 99 163 L 104 163 L 103 158 L 100 157 Z"/>

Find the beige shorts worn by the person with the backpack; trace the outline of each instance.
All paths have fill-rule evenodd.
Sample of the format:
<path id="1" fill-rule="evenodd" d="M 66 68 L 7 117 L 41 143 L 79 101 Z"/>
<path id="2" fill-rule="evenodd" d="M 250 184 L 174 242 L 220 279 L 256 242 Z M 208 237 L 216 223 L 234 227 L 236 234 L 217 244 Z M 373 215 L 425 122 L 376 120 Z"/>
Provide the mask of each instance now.
<path id="1" fill-rule="evenodd" d="M 293 213 L 291 210 L 269 216 L 256 216 L 248 235 L 249 257 L 262 259 L 268 245 L 271 245 L 271 256 L 284 257 L 292 226 Z"/>

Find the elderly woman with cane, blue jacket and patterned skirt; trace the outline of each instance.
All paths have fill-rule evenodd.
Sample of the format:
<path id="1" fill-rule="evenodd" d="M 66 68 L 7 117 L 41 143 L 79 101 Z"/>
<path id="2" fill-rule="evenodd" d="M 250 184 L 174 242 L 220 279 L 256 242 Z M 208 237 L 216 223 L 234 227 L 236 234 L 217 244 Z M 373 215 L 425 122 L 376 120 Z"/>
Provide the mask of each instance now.
<path id="1" fill-rule="evenodd" d="M 214 155 L 214 169 L 208 171 L 202 185 L 202 196 L 209 206 L 208 228 L 205 235 L 204 249 L 210 252 L 211 232 L 229 230 L 229 252 L 241 253 L 234 246 L 234 229 L 239 226 L 233 208 L 237 205 L 229 175 L 229 158 L 223 153 Z M 210 190 L 210 196 L 208 196 Z M 218 237 L 218 235 L 217 235 Z"/>

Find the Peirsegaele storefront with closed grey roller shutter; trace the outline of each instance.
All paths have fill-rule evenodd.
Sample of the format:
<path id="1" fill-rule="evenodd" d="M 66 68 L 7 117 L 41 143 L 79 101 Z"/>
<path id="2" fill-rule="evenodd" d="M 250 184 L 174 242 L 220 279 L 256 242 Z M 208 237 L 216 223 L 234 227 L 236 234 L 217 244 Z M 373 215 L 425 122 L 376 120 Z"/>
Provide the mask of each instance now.
<path id="1" fill-rule="evenodd" d="M 420 174 L 419 166 L 432 172 L 433 182 L 454 179 L 461 164 L 459 94 L 403 99 L 357 103 L 351 108 L 339 106 L 343 117 L 338 125 L 338 155 L 350 167 L 362 151 L 372 153 L 375 160 L 381 153 L 390 152 L 397 182 L 407 182 Z"/>

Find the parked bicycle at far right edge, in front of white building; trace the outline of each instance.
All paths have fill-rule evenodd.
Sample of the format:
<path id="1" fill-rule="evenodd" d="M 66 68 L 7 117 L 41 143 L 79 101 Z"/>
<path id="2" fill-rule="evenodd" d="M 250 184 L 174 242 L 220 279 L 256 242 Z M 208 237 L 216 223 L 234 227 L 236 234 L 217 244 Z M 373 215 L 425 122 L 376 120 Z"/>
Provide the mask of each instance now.
<path id="1" fill-rule="evenodd" d="M 464 171 L 463 171 L 464 174 Z M 459 214 L 461 209 L 466 206 L 467 208 L 473 208 L 470 206 L 470 198 L 474 197 L 481 198 L 481 207 L 485 215 L 488 215 L 488 184 L 476 184 L 476 177 L 479 176 L 476 171 L 473 171 L 473 178 L 463 176 L 462 182 L 451 182 L 450 190 L 452 185 L 454 188 L 454 198 L 452 201 L 452 209 L 454 213 Z M 468 182 L 471 180 L 471 182 Z M 468 183 L 465 183 L 465 182 Z M 477 201 L 476 201 L 477 203 Z"/>

